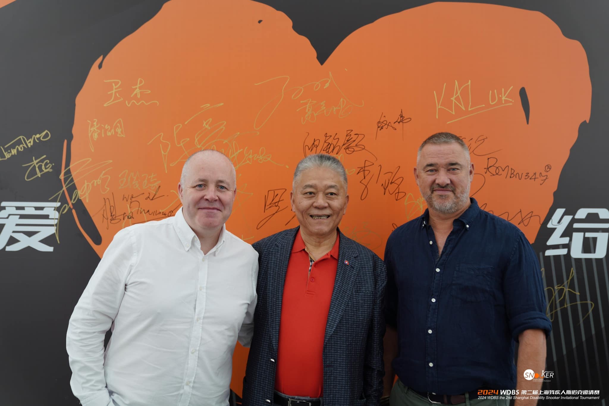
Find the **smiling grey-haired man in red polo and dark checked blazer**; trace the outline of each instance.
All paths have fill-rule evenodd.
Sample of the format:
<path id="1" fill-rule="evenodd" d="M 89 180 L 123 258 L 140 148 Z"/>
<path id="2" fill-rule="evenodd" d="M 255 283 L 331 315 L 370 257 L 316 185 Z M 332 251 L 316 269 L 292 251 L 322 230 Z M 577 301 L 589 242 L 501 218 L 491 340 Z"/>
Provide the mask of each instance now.
<path id="1" fill-rule="evenodd" d="M 258 306 L 243 404 L 378 405 L 385 267 L 338 229 L 349 201 L 340 161 L 300 161 L 290 201 L 300 226 L 253 245 Z"/>

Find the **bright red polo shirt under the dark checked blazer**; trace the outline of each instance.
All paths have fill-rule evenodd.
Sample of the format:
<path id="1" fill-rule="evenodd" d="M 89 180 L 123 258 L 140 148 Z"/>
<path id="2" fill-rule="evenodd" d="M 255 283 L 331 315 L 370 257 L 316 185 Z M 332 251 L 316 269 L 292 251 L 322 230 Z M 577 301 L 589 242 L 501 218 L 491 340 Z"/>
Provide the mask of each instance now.
<path id="1" fill-rule="evenodd" d="M 312 265 L 300 230 L 296 234 L 283 285 L 276 391 L 323 396 L 323 339 L 338 259 L 338 234 L 332 250 Z"/>

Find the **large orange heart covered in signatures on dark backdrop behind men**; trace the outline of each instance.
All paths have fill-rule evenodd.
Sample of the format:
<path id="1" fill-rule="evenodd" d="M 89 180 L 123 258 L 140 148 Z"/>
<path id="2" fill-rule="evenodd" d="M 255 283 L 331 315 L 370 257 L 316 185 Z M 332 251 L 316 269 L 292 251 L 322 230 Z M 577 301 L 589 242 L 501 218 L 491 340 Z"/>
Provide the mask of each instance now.
<path id="1" fill-rule="evenodd" d="M 395 225 L 424 211 L 412 168 L 438 131 L 470 145 L 482 208 L 535 239 L 590 116 L 577 41 L 538 12 L 434 3 L 356 30 L 323 65 L 315 56 L 267 5 L 174 0 L 100 57 L 63 168 L 65 196 L 82 200 L 102 237 L 83 231 L 94 250 L 174 214 L 183 162 L 213 148 L 237 170 L 234 234 L 252 243 L 296 226 L 295 164 L 325 152 L 348 170 L 342 231 L 382 256 Z M 237 393 L 246 354 L 238 346 Z"/>

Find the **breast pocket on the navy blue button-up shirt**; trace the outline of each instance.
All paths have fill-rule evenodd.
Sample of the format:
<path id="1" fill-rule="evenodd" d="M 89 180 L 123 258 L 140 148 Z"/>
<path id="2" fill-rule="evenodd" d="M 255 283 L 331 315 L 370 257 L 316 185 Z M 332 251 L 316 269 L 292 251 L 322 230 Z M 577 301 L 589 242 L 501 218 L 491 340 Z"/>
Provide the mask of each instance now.
<path id="1" fill-rule="evenodd" d="M 494 271 L 490 265 L 460 262 L 452 274 L 451 295 L 466 302 L 493 298 Z"/>

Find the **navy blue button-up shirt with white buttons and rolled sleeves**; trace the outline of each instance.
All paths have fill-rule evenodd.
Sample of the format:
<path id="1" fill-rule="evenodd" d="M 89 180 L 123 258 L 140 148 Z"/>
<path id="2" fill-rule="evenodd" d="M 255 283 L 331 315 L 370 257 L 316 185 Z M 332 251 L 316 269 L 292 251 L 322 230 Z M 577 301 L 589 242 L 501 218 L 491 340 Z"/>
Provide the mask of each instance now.
<path id="1" fill-rule="evenodd" d="M 439 258 L 427 210 L 387 240 L 385 320 L 398 331 L 399 351 L 393 369 L 421 392 L 512 389 L 518 335 L 552 329 L 537 257 L 515 225 L 473 198 L 452 227 Z"/>

